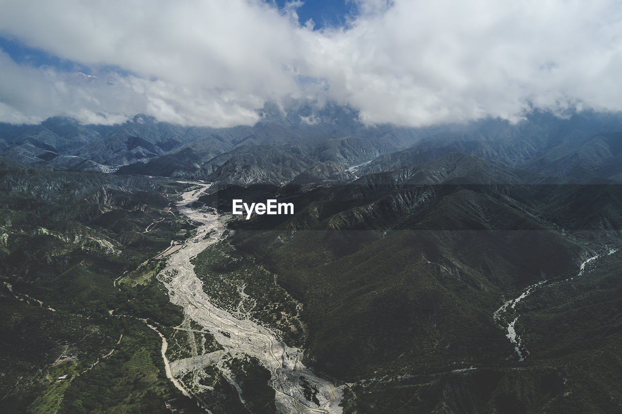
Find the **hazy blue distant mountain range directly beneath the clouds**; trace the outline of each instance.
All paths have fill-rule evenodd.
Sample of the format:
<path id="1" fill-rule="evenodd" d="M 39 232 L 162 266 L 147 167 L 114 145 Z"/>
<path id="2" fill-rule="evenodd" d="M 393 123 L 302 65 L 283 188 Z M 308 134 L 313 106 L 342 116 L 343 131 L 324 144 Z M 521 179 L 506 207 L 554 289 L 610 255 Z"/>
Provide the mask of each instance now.
<path id="1" fill-rule="evenodd" d="M 557 152 L 599 132 L 622 131 L 621 116 L 598 113 L 568 119 L 534 113 L 515 125 L 488 119 L 425 128 L 368 127 L 350 108 L 335 104 L 319 108 L 304 101 L 292 101 L 287 108 L 266 104 L 260 115 L 261 121 L 253 127 L 220 129 L 176 126 L 144 115 L 116 126 L 81 125 L 66 117 L 35 126 L 0 124 L 0 155 L 24 165 L 68 170 L 114 172 L 123 167 L 119 173 L 280 183 L 318 162 L 331 161 L 344 169 L 369 162 L 357 172 L 363 175 L 413 167 L 452 152 L 527 168 L 527 163 L 559 145 L 567 147 Z M 288 155 L 269 156 L 265 145 Z M 246 158 L 241 160 L 237 150 L 241 147 L 261 154 L 251 162 L 245 149 Z M 228 160 L 230 164 L 213 175 Z M 241 173 L 247 161 L 252 170 Z M 602 170 L 594 174 L 615 177 L 614 162 L 608 166 L 601 161 Z M 537 165 L 534 161 L 528 169 L 537 172 Z"/>

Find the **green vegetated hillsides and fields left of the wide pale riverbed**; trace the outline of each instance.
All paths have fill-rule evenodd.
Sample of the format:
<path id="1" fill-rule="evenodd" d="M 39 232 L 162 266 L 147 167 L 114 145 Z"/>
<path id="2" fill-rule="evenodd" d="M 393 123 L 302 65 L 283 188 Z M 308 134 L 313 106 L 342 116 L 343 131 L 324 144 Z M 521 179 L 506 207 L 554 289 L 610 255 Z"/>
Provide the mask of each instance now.
<path id="1" fill-rule="evenodd" d="M 180 190 L 100 173 L 0 171 L 3 411 L 164 413 L 166 399 L 181 397 L 159 336 L 136 319 L 182 321 L 153 277 L 164 262 L 148 260 L 192 231 L 164 196 Z"/>

